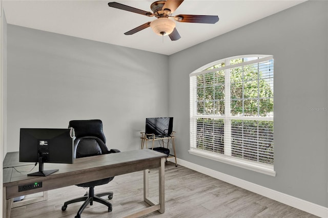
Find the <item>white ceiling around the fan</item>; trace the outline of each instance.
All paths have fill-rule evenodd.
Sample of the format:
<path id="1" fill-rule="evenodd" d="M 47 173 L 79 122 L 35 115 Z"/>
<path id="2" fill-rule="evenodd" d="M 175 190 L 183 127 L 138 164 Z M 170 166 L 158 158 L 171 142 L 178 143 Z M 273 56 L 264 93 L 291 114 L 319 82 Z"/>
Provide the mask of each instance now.
<path id="1" fill-rule="evenodd" d="M 170 55 L 305 1 L 185 0 L 173 15 L 218 15 L 220 20 L 216 24 L 176 22 L 181 35 L 177 41 L 162 38 L 151 28 L 124 35 L 156 18 L 110 8 L 109 2 L 114 1 L 4 0 L 3 7 L 8 24 Z M 151 11 L 154 0 L 115 2 Z"/>

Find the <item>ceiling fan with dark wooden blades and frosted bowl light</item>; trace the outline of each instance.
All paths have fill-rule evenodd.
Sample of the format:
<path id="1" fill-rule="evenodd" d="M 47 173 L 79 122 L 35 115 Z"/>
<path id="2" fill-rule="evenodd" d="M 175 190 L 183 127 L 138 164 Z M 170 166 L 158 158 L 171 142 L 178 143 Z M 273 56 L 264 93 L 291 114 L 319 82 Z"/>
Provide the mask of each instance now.
<path id="1" fill-rule="evenodd" d="M 117 2 L 108 3 L 109 7 L 134 12 L 137 14 L 146 15 L 149 17 L 155 16 L 157 19 L 142 24 L 126 33 L 125 35 L 132 35 L 140 30 L 144 30 L 151 27 L 153 31 L 158 35 L 169 35 L 172 41 L 181 38 L 180 34 L 175 28 L 175 21 L 186 22 L 186 23 L 201 23 L 201 24 L 215 24 L 219 17 L 216 15 L 190 15 L 190 14 L 179 14 L 172 16 L 172 13 L 181 5 L 183 0 L 164 0 L 156 1 L 150 5 L 152 12 L 140 10 L 127 5 L 123 5 Z M 173 20 L 173 19 L 174 20 Z"/>

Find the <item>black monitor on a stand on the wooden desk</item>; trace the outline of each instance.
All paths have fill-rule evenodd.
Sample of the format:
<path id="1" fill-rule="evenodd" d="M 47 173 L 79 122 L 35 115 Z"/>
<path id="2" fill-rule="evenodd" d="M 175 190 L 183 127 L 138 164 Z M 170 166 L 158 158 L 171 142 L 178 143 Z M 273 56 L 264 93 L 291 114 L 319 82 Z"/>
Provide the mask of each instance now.
<path id="1" fill-rule="evenodd" d="M 29 176 L 48 176 L 58 169 L 44 170 L 44 163 L 73 163 L 73 139 L 68 128 L 20 128 L 19 162 L 39 163 Z"/>

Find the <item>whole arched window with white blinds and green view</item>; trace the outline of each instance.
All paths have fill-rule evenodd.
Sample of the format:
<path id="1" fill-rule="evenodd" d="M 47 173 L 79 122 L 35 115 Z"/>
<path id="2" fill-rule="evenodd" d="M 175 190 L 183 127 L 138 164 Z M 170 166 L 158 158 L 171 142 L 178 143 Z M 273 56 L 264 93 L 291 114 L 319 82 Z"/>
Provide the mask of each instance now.
<path id="1" fill-rule="evenodd" d="M 273 56 L 244 55 L 190 74 L 190 153 L 275 176 Z"/>

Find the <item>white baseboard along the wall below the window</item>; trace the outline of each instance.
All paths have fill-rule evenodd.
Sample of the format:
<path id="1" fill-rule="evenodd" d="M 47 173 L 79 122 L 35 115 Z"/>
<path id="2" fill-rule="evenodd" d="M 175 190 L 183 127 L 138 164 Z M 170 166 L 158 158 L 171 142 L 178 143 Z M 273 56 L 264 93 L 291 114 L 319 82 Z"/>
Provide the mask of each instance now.
<path id="1" fill-rule="evenodd" d="M 173 160 L 170 160 L 173 162 Z M 328 217 L 328 208 L 327 207 L 323 207 L 296 197 L 293 197 L 289 194 L 285 194 L 279 191 L 275 191 L 273 189 L 270 188 L 266 188 L 242 179 L 238 179 L 236 177 L 232 177 L 230 175 L 227 175 L 225 173 L 222 172 L 218 172 L 215 171 L 213 169 L 209 169 L 185 160 L 181 160 L 177 158 L 177 164 L 190 168 L 192 170 L 195 170 L 197 172 L 201 172 L 205 175 L 208 175 L 210 177 L 213 177 L 215 179 L 218 180 L 222 180 L 224 182 L 233 184 L 235 186 L 241 187 L 243 189 L 252 191 L 254 193 L 260 194 L 264 197 L 273 199 L 275 201 L 278 201 L 280 203 L 289 205 L 291 207 L 295 207 L 297 209 L 303 210 L 305 212 L 314 214 L 316 216 L 320 216 L 323 218 L 327 218 Z"/>

